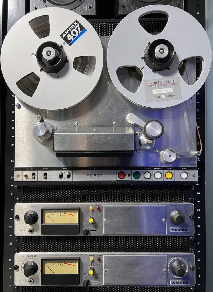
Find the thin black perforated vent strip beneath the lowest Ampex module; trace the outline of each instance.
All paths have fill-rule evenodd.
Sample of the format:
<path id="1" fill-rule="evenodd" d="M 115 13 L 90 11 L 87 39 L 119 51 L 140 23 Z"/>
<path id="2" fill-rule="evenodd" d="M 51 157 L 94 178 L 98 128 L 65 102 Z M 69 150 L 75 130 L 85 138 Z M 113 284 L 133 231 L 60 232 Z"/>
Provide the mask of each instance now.
<path id="1" fill-rule="evenodd" d="M 83 287 L 22 287 L 22 292 L 77 292 L 85 291 Z M 183 287 L 94 287 L 91 292 L 186 292 Z"/>

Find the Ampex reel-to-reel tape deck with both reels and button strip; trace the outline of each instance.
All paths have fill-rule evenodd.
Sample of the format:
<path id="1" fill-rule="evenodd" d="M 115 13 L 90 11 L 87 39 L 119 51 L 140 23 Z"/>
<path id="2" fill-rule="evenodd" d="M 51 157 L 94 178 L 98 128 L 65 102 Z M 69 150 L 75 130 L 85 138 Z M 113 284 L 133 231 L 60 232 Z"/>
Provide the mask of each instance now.
<path id="1" fill-rule="evenodd" d="M 142 27 L 150 13 L 168 19 L 160 32 Z M 191 97 L 210 64 L 204 29 L 173 6 L 134 11 L 110 38 L 68 9 L 25 15 L 1 52 L 16 95 L 14 180 L 195 184 L 200 152 Z"/>

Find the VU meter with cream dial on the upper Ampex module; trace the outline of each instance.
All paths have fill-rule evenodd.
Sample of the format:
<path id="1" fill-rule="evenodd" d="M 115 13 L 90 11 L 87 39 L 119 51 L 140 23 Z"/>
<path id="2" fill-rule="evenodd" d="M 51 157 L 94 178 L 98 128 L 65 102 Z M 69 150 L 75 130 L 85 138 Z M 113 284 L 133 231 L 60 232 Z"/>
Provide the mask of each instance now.
<path id="1" fill-rule="evenodd" d="M 80 209 L 43 209 L 41 230 L 44 235 L 78 235 Z"/>

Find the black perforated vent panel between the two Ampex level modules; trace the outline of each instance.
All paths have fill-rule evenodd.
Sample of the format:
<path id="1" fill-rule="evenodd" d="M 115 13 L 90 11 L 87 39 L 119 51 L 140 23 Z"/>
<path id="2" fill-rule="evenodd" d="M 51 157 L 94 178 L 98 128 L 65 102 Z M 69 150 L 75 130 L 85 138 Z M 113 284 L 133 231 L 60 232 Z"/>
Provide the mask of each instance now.
<path id="1" fill-rule="evenodd" d="M 186 252 L 186 237 L 26 236 L 24 252 Z"/>

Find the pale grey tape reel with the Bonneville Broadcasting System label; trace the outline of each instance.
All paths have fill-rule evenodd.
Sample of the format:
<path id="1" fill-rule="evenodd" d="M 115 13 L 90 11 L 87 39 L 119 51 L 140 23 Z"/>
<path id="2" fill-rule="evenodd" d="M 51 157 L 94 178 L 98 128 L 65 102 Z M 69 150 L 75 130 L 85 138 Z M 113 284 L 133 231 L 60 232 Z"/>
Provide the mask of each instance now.
<path id="1" fill-rule="evenodd" d="M 157 34 L 147 32 L 139 22 L 150 13 L 168 18 Z M 195 58 L 202 64 L 197 80 L 191 70 Z M 147 6 L 127 15 L 112 33 L 107 50 L 109 75 L 118 91 L 151 108 L 171 107 L 193 96 L 208 76 L 211 59 L 210 42 L 200 23 L 167 5 Z"/>

